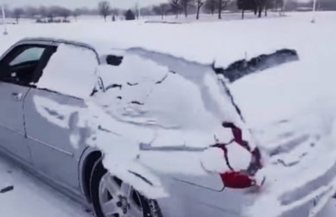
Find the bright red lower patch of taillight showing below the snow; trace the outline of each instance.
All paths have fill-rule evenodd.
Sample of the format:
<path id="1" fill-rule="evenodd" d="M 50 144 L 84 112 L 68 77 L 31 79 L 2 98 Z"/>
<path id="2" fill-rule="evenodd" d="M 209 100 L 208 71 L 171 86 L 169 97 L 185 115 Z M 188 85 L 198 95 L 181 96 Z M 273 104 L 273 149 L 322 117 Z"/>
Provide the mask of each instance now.
<path id="1" fill-rule="evenodd" d="M 242 172 L 228 171 L 221 173 L 224 186 L 229 188 L 247 188 L 256 184 L 255 180 Z"/>

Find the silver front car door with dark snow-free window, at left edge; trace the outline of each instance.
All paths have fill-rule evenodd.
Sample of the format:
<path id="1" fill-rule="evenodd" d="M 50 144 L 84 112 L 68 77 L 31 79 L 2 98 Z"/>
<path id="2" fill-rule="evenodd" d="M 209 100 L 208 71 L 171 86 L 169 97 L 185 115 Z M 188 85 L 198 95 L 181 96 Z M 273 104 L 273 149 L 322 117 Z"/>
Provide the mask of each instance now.
<path id="1" fill-rule="evenodd" d="M 0 61 L 0 146 L 20 160 L 30 162 L 25 141 L 24 100 L 47 47 L 19 45 Z"/>

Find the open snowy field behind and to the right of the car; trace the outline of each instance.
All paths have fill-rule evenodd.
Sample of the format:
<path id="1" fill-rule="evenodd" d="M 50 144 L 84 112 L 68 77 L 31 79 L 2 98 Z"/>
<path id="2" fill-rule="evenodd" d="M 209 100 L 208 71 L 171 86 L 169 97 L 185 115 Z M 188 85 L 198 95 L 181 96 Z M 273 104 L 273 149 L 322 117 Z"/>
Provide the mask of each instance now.
<path id="1" fill-rule="evenodd" d="M 314 175 L 318 176 L 320 171 L 323 173 L 323 167 L 334 166 L 335 152 L 330 150 L 334 151 L 335 140 L 331 139 L 336 117 L 333 85 L 335 76 L 332 73 L 332 63 L 336 57 L 336 51 L 332 50 L 335 47 L 335 18 L 335 13 L 319 13 L 316 15 L 316 23 L 311 24 L 312 14 L 296 13 L 276 19 L 203 22 L 179 26 L 143 24 L 139 21 L 115 24 L 97 24 L 98 21 L 94 21 L 95 25 L 23 24 L 10 26 L 10 35 L 0 37 L 0 52 L 4 52 L 10 44 L 22 37 L 53 37 L 56 32 L 59 37 L 73 40 L 82 40 L 83 35 L 90 32 L 91 38 L 93 36 L 96 39 L 92 43 L 102 50 L 111 47 L 143 47 L 203 64 L 216 61 L 216 66 L 222 67 L 235 60 L 249 59 L 280 48 L 297 50 L 300 61 L 250 75 L 230 85 L 247 124 L 255 131 L 260 141 L 260 146 L 275 156 L 267 159 L 269 164 L 266 166 L 266 172 L 271 178 L 259 203 L 260 206 L 266 206 L 267 202 L 273 199 L 268 197 L 269 195 L 291 196 L 289 189 L 295 185 L 288 180 L 288 175 L 299 172 L 300 177 L 295 180 L 295 184 L 301 186 L 313 181 L 316 178 Z M 108 34 L 102 36 L 105 30 L 108 30 Z M 106 41 L 107 37 L 113 38 L 111 44 L 97 43 L 102 38 Z M 292 147 L 290 141 L 302 138 L 303 142 L 299 142 L 300 145 Z M 284 144 L 285 149 L 276 146 L 280 144 Z M 316 154 L 316 151 L 323 154 L 323 157 Z M 283 152 L 290 154 L 281 155 Z M 318 163 L 314 163 L 315 160 L 318 160 Z M 307 166 L 314 168 L 314 172 L 307 170 Z M 11 176 L 11 173 L 6 175 Z M 23 177 L 19 177 L 19 180 L 21 178 Z M 276 182 L 277 179 L 281 181 Z M 20 183 L 22 182 L 19 181 L 19 186 Z M 286 188 L 277 188 L 283 186 Z M 327 187 L 326 190 L 334 190 L 332 185 Z M 288 190 L 288 194 L 284 195 L 286 192 L 282 190 Z M 317 196 L 319 193 L 321 192 L 317 192 Z M 334 212 L 333 207 L 334 202 L 331 201 L 319 214 L 331 216 L 330 213 Z M 254 213 L 259 212 L 257 210 Z"/>

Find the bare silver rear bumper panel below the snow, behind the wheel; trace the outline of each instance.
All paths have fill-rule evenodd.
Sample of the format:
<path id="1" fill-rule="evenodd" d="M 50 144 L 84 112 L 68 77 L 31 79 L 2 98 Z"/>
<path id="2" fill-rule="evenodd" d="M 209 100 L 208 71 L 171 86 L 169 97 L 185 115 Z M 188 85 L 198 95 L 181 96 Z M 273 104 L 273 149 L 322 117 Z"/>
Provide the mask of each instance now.
<path id="1" fill-rule="evenodd" d="M 225 188 L 216 191 L 186 183 L 171 176 L 160 177 L 170 194 L 167 198 L 158 199 L 163 216 L 242 216 L 243 205 L 250 199 L 247 196 L 248 191 L 251 190 L 249 188 Z M 178 212 L 176 212 L 177 209 Z"/>

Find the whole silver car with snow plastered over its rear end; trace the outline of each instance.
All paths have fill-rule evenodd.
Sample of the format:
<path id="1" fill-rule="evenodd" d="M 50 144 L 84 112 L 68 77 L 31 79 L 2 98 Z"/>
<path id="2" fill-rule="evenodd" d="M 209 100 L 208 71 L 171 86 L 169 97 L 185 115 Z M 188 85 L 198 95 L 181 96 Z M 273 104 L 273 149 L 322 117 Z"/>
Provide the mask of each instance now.
<path id="1" fill-rule="evenodd" d="M 225 78 L 211 64 L 102 48 L 35 38 L 2 56 L 1 150 L 98 217 L 242 216 L 267 177 Z"/>

